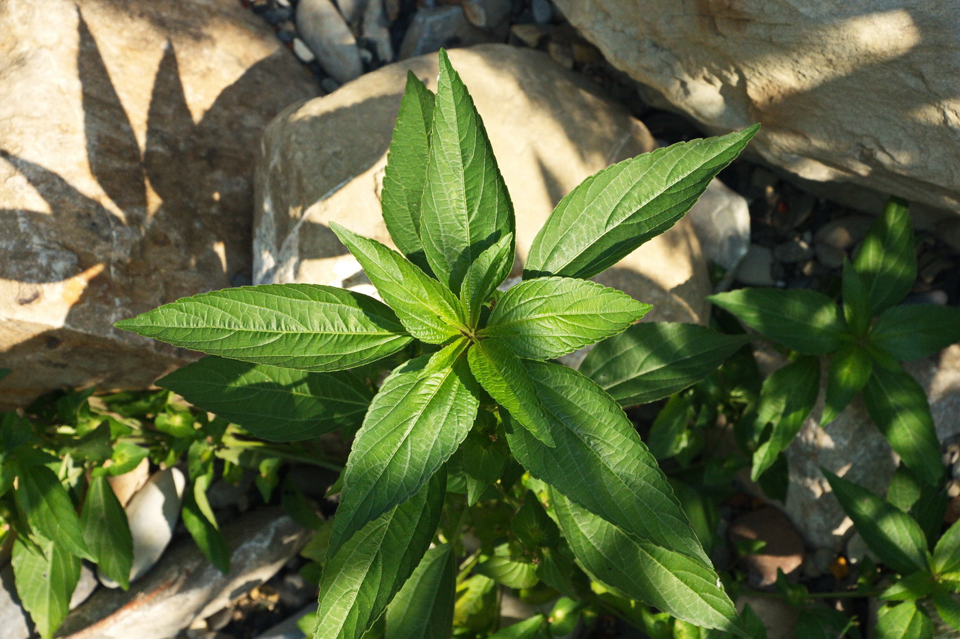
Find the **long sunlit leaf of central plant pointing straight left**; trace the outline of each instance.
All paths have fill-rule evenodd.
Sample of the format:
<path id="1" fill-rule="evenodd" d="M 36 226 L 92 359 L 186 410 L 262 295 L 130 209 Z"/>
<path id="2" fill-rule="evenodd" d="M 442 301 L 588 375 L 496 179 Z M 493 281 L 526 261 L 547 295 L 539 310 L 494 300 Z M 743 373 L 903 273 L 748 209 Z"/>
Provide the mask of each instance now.
<path id="1" fill-rule="evenodd" d="M 316 284 L 265 284 L 183 297 L 117 328 L 253 364 L 330 371 L 407 343 L 394 312 L 372 297 Z"/>

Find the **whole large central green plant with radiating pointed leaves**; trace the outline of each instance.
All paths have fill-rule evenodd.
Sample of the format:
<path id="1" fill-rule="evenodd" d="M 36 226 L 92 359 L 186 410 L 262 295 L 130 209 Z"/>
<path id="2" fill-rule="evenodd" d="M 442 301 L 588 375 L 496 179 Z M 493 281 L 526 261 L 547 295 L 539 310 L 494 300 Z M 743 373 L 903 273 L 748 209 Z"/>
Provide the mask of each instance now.
<path id="1" fill-rule="evenodd" d="M 332 225 L 386 303 L 264 285 L 180 299 L 117 326 L 215 356 L 160 383 L 254 435 L 315 438 L 349 430 L 366 411 L 327 549 L 316 554 L 318 639 L 389 634 L 402 625 L 388 608 L 395 596 L 422 618 L 485 632 L 496 623 L 496 584 L 541 580 L 612 609 L 640 600 L 697 626 L 756 634 L 737 619 L 617 403 L 685 388 L 742 340 L 639 325 L 618 338 L 615 366 L 585 364 L 585 374 L 548 361 L 646 313 L 586 278 L 676 224 L 756 127 L 588 178 L 540 229 L 523 281 L 500 294 L 515 260 L 513 206 L 467 88 L 444 52 L 440 61 L 436 96 L 408 79 L 384 178 L 383 215 L 403 254 Z M 631 359 L 632 344 L 658 340 L 660 365 Z M 391 368 L 372 394 L 372 380 Z M 465 530 L 479 549 L 468 552 Z M 434 540 L 446 545 L 427 553 Z M 451 581 L 451 557 L 463 555 Z M 606 599 L 585 587 L 572 557 L 607 584 Z"/>

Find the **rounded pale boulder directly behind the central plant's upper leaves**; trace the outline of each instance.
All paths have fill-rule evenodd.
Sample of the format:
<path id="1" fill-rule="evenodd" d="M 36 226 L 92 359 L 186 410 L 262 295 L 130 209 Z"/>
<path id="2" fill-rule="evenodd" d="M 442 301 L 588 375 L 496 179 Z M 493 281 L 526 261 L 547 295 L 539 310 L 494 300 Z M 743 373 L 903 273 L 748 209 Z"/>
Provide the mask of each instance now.
<path id="1" fill-rule="evenodd" d="M 521 259 L 574 186 L 654 148 L 643 125 L 539 52 L 481 45 L 450 58 L 510 189 Z M 379 192 L 407 69 L 436 88 L 436 55 L 404 60 L 292 106 L 267 128 L 257 164 L 254 282 L 362 284 L 359 265 L 327 224 L 389 242 Z M 596 279 L 652 303 L 650 319 L 706 317 L 706 268 L 686 220 Z"/>

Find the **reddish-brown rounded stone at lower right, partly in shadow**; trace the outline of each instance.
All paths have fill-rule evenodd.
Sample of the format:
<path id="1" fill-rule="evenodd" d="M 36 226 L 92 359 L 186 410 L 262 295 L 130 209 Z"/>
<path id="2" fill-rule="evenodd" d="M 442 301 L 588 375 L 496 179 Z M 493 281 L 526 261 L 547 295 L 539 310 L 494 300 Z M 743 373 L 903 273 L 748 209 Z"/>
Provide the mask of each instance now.
<path id="1" fill-rule="evenodd" d="M 758 540 L 766 545 L 743 557 L 751 585 L 766 588 L 777 582 L 777 571 L 789 576 L 804 563 L 804 541 L 780 509 L 764 507 L 740 515 L 727 532 L 732 542 Z"/>

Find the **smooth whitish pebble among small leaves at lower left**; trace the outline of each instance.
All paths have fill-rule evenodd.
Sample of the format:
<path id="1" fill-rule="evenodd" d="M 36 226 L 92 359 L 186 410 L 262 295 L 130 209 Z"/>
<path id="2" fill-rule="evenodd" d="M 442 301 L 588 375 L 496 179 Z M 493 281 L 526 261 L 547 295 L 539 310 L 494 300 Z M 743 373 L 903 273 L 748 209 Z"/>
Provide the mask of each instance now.
<path id="1" fill-rule="evenodd" d="M 133 495 L 124 509 L 133 537 L 131 583 L 154 566 L 173 538 L 185 487 L 186 478 L 179 468 L 161 470 Z M 100 571 L 97 577 L 108 588 L 120 586 Z"/>

